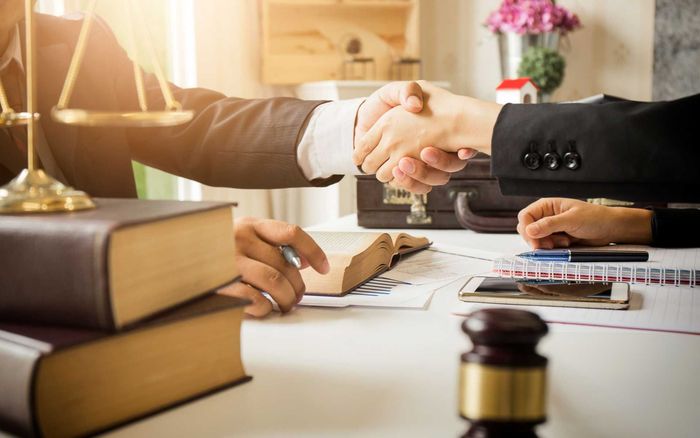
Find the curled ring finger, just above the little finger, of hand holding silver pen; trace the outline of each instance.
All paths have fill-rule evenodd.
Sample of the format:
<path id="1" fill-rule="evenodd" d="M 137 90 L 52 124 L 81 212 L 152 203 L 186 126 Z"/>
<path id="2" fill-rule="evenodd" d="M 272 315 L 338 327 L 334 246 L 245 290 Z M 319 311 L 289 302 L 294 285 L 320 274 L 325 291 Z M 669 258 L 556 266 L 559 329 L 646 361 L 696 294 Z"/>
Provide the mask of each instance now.
<path id="1" fill-rule="evenodd" d="M 267 292 L 282 312 L 289 312 L 298 302 L 294 288 L 280 271 L 247 257 L 238 257 L 243 280 L 256 289 Z"/>

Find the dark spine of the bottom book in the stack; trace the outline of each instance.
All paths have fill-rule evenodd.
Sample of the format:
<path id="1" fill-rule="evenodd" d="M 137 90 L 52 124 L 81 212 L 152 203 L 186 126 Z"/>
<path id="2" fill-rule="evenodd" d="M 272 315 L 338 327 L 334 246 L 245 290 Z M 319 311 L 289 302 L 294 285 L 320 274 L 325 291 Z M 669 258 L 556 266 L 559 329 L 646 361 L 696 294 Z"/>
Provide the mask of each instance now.
<path id="1" fill-rule="evenodd" d="M 41 353 L 0 338 L 0 430 L 39 435 L 34 410 L 34 374 Z"/>

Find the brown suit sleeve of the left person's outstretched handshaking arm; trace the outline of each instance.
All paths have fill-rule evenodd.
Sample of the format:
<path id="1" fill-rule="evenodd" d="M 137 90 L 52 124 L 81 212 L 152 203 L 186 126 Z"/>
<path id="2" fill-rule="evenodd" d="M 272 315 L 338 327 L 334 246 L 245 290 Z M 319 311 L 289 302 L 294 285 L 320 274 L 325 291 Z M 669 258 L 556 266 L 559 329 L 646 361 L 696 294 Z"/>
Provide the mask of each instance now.
<path id="1" fill-rule="evenodd" d="M 138 108 L 131 61 L 106 26 L 97 30 L 113 52 L 114 86 L 122 110 Z M 165 103 L 153 75 L 146 75 L 149 107 Z M 206 89 L 171 85 L 194 119 L 170 128 L 127 132 L 133 159 L 211 186 L 282 188 L 325 186 L 342 177 L 308 181 L 297 163 L 297 145 L 308 117 L 322 101 L 292 98 L 238 99 Z"/>

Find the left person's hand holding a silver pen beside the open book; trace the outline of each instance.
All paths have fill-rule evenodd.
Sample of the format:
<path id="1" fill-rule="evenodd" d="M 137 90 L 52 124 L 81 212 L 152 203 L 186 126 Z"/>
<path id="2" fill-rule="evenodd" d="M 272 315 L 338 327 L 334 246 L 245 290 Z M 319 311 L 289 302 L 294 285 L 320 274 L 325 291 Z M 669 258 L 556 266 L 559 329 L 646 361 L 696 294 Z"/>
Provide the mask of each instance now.
<path id="1" fill-rule="evenodd" d="M 297 269 L 288 264 L 279 247 L 289 245 L 302 259 L 302 269 L 311 266 L 321 274 L 330 270 L 328 259 L 313 239 L 297 225 L 275 220 L 238 219 L 234 226 L 236 263 L 243 282 L 219 292 L 252 301 L 246 313 L 265 316 L 272 303 L 261 291 L 267 292 L 282 312 L 288 312 L 304 296 L 305 285 Z"/>

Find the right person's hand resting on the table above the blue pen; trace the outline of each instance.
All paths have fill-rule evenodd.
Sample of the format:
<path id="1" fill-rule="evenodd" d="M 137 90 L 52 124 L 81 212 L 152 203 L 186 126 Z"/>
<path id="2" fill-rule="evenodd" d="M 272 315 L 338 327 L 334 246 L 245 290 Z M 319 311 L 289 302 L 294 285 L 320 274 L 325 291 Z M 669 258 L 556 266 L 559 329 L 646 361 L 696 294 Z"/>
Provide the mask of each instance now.
<path id="1" fill-rule="evenodd" d="M 652 212 L 544 198 L 518 213 L 518 233 L 533 248 L 651 242 Z"/>

